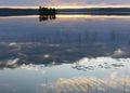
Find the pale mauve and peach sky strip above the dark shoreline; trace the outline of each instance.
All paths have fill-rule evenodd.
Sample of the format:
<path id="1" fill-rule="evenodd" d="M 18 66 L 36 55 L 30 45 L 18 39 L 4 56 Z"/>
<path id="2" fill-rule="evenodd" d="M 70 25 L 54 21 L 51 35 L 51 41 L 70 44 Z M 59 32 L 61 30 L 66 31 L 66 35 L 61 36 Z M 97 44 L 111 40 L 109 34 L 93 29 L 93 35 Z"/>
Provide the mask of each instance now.
<path id="1" fill-rule="evenodd" d="M 0 6 L 129 5 L 130 0 L 0 0 Z"/>

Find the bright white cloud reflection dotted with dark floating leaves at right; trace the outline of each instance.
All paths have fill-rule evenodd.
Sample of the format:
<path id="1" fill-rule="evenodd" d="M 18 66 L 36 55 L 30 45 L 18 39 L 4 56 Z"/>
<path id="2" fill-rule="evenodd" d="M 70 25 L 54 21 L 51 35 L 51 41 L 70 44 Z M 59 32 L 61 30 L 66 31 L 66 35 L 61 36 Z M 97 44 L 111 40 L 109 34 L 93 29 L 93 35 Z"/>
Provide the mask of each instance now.
<path id="1" fill-rule="evenodd" d="M 83 57 L 75 63 L 74 69 L 88 71 L 100 69 L 121 69 L 130 64 L 130 58 Z"/>

